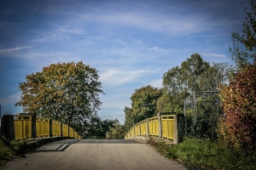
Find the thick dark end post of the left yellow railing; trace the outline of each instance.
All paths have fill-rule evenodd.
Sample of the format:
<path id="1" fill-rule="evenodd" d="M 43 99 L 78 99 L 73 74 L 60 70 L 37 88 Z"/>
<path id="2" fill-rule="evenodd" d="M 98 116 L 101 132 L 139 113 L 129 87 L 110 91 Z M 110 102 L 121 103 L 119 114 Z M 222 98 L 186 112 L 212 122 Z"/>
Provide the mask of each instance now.
<path id="1" fill-rule="evenodd" d="M 3 115 L 1 119 L 1 134 L 6 139 L 15 140 L 15 116 Z"/>

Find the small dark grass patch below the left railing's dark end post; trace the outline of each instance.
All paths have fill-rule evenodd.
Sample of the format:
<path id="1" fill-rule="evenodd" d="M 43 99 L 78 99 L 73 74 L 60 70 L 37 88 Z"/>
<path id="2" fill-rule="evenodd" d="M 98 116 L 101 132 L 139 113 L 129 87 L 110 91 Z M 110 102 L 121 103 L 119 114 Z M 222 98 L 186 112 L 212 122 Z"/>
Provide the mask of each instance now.
<path id="1" fill-rule="evenodd" d="M 3 166 L 6 161 L 11 161 L 17 156 L 25 154 L 26 143 L 24 141 L 8 141 L 3 137 L 0 137 L 0 167 Z"/>

